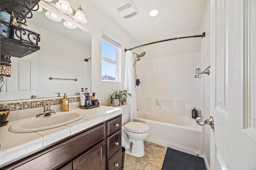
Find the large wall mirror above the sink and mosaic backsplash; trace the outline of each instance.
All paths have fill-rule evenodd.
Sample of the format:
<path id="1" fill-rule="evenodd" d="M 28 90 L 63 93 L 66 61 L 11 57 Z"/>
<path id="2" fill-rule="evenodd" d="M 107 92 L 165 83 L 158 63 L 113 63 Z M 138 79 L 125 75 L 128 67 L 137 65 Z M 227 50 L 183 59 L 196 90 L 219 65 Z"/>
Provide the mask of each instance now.
<path id="1" fill-rule="evenodd" d="M 91 35 L 80 28 L 66 28 L 65 20 L 54 22 L 45 12 L 33 12 L 27 19 L 26 24 L 40 34 L 40 50 L 22 58 L 11 57 L 11 77 L 4 77 L 0 101 L 31 99 L 32 95 L 36 99 L 57 97 L 55 93 L 70 96 L 81 88 L 91 93 Z"/>

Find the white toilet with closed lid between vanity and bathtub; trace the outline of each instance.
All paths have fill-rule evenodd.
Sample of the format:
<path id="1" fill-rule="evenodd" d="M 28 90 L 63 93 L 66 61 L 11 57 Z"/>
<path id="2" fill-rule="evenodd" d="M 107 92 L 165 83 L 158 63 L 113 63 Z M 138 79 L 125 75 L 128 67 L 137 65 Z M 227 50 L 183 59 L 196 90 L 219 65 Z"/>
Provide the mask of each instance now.
<path id="1" fill-rule="evenodd" d="M 122 113 L 122 146 L 132 156 L 144 156 L 144 139 L 149 135 L 149 126 L 140 122 L 128 122 L 129 105 L 118 106 Z"/>

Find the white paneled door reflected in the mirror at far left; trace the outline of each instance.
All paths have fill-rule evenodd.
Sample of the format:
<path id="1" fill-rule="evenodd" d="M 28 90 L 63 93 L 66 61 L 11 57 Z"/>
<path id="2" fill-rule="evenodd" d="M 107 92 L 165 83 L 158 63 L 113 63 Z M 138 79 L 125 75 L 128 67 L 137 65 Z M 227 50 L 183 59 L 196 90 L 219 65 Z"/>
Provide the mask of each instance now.
<path id="1" fill-rule="evenodd" d="M 22 58 L 11 57 L 11 76 L 0 84 L 0 101 L 30 99 L 37 95 L 38 52 Z"/>

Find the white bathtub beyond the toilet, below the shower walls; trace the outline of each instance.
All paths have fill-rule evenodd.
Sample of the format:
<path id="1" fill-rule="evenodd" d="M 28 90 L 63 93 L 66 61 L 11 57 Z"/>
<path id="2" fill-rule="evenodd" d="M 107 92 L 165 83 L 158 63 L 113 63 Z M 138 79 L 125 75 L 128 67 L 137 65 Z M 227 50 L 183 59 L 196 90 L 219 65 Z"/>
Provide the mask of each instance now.
<path id="1" fill-rule="evenodd" d="M 194 119 L 170 117 L 170 114 L 166 116 L 148 111 L 137 111 L 137 115 L 133 119 L 134 122 L 145 123 L 150 127 L 150 134 L 146 141 L 203 156 L 202 126 L 198 125 Z"/>

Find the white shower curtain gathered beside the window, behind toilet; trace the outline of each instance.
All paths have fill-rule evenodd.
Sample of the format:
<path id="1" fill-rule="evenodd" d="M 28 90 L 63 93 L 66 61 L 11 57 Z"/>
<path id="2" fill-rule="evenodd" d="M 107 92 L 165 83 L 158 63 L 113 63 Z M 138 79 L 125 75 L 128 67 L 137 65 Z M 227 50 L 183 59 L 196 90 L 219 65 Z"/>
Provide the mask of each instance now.
<path id="1" fill-rule="evenodd" d="M 134 87 L 134 77 L 133 77 L 133 56 L 132 51 L 128 50 L 125 53 L 124 60 L 124 87 L 123 89 L 128 89 L 127 93 L 130 93 L 132 97 L 127 98 L 127 104 L 129 104 L 129 121 L 133 121 L 133 117 L 137 117 L 137 105 L 136 105 L 136 94 Z"/>

